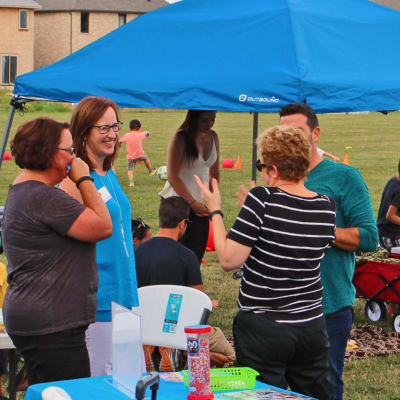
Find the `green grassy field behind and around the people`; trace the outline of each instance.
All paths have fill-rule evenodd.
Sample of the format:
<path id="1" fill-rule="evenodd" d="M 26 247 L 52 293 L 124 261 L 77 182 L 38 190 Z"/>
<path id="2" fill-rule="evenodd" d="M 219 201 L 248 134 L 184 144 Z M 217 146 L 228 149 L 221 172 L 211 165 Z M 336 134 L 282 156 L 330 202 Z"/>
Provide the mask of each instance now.
<path id="1" fill-rule="evenodd" d="M 1 100 L 0 94 L 0 132 L 4 132 L 7 120 L 6 103 L 7 101 Z M 68 107 L 57 108 L 54 105 L 51 107 L 50 110 L 47 107 L 37 110 L 37 106 L 28 104 L 27 114 L 15 116 L 11 137 L 20 124 L 41 115 L 59 121 L 69 120 Z M 152 134 L 144 141 L 144 149 L 152 164 L 158 167 L 165 165 L 169 138 L 183 121 L 184 116 L 183 111 L 126 110 L 121 116 L 125 123 L 121 134 L 128 130 L 131 119 L 139 119 L 142 128 Z M 260 131 L 276 124 L 278 124 L 276 114 L 260 115 Z M 357 167 L 365 179 L 376 214 L 384 185 L 397 173 L 400 113 L 394 112 L 387 116 L 379 113 L 321 115 L 320 126 L 322 130 L 320 147 L 341 159 L 345 153 L 349 155 L 350 164 Z M 248 183 L 251 179 L 252 116 L 248 113 L 218 113 L 214 129 L 220 136 L 221 160 L 232 158 L 235 161 L 240 155 L 243 163 L 243 169 L 240 171 L 221 170 L 224 220 L 227 228 L 230 228 L 238 213 L 235 192 L 240 184 Z M 135 172 L 136 187 L 129 189 L 124 147 L 115 167 L 120 183 L 131 200 L 132 216 L 141 217 L 152 227 L 153 232 L 156 232 L 158 192 L 162 189 L 163 182 L 156 176 L 149 177 L 144 165 L 138 165 Z M 18 173 L 19 169 L 13 161 L 3 162 L 0 172 L 0 205 L 5 203 L 8 186 Z M 224 273 L 221 270 L 214 253 L 207 253 L 205 258 L 207 263 L 203 264 L 202 273 L 206 290 L 212 298 L 220 301 L 220 309 L 213 313 L 210 322 L 220 326 L 225 333 L 230 333 L 232 319 L 237 312 L 236 298 L 239 283 L 232 279 L 232 273 Z M 0 257 L 0 260 L 5 261 L 4 256 Z M 364 302 L 357 300 L 355 325 L 367 323 L 370 321 L 364 317 Z M 390 330 L 387 323 L 381 326 Z M 345 398 L 347 400 L 399 399 L 400 387 L 397 379 L 399 366 L 400 355 L 346 363 Z"/>

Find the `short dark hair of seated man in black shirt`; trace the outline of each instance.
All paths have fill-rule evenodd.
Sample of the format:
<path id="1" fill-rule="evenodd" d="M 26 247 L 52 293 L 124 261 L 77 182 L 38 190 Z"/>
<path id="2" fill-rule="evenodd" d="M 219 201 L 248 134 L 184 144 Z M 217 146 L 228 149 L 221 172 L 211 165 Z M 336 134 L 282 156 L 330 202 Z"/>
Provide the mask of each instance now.
<path id="1" fill-rule="evenodd" d="M 179 196 L 171 196 L 161 200 L 158 211 L 160 228 L 174 229 L 179 222 L 189 217 L 190 205 Z"/>

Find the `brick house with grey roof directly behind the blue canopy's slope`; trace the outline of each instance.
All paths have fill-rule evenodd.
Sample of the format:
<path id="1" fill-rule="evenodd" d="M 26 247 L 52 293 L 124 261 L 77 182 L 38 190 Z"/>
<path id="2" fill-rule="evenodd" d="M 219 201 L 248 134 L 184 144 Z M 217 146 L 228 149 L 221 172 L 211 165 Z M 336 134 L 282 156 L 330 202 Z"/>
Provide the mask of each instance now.
<path id="1" fill-rule="evenodd" d="M 35 12 L 35 69 L 70 55 L 141 14 L 169 4 L 165 0 L 37 1 L 42 8 Z"/>

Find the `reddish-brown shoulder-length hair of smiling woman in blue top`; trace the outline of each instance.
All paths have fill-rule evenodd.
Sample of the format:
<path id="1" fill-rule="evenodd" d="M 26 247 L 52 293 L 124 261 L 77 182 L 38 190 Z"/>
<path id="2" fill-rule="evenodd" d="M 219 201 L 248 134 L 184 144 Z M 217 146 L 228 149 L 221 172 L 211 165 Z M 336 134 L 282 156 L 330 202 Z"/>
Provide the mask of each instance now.
<path id="1" fill-rule="evenodd" d="M 75 153 L 78 157 L 89 166 L 90 170 L 95 169 L 95 165 L 90 160 L 86 147 L 83 145 L 84 140 L 89 136 L 93 125 L 104 115 L 104 113 L 112 108 L 115 111 L 117 120 L 119 120 L 118 106 L 110 99 L 105 97 L 88 96 L 81 100 L 74 109 L 71 117 L 72 139 L 74 141 Z M 108 171 L 112 168 L 115 159 L 118 156 L 119 137 L 115 143 L 114 153 L 104 159 L 103 168 Z"/>

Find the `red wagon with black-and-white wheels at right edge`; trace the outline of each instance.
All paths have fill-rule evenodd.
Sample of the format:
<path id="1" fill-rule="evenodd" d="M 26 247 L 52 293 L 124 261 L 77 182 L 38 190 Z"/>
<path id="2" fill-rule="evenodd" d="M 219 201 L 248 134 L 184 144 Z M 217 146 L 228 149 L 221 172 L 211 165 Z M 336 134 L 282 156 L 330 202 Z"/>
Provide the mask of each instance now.
<path id="1" fill-rule="evenodd" d="M 365 315 L 371 321 L 380 321 L 386 318 L 386 303 L 400 304 L 400 264 L 370 261 L 356 266 L 353 285 L 356 297 L 366 300 Z M 400 311 L 393 315 L 392 325 L 400 332 Z"/>

